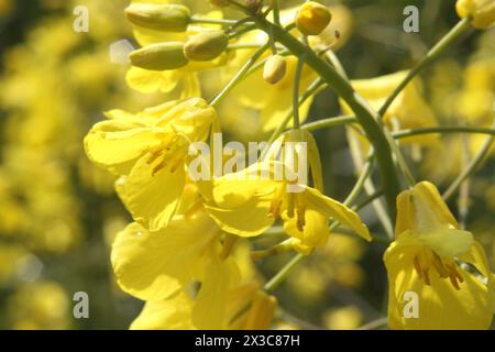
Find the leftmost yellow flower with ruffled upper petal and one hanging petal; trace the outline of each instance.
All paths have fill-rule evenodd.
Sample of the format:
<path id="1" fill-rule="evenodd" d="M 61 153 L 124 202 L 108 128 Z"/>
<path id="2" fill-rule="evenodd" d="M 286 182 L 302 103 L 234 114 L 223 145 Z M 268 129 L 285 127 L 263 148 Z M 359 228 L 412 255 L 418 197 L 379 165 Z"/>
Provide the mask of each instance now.
<path id="1" fill-rule="evenodd" d="M 200 98 L 132 114 L 107 113 L 85 138 L 88 157 L 122 175 L 119 196 L 134 220 L 157 230 L 172 219 L 186 183 L 189 144 L 208 136 L 216 111 Z"/>

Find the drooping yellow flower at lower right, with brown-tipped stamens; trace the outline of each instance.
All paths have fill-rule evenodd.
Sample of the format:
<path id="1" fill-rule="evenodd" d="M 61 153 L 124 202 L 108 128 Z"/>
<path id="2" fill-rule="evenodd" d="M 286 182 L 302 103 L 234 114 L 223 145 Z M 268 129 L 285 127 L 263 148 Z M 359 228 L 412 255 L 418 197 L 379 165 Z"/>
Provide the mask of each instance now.
<path id="1" fill-rule="evenodd" d="M 417 184 L 397 198 L 396 239 L 384 255 L 392 329 L 487 329 L 494 278 L 483 248 L 460 230 L 436 186 Z M 417 316 L 405 315 L 408 293 Z"/>

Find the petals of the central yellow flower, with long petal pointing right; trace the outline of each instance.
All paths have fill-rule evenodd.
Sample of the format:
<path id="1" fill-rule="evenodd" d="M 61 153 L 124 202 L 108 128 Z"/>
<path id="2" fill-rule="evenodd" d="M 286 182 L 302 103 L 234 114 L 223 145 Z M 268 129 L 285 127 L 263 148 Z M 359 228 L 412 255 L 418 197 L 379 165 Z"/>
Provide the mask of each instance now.
<path id="1" fill-rule="evenodd" d="M 371 240 L 360 217 L 343 204 L 305 185 L 299 185 L 299 193 L 288 193 L 287 180 L 276 180 L 273 174 L 263 176 L 273 173 L 274 167 L 284 166 L 260 162 L 213 180 L 207 208 L 220 228 L 240 237 L 255 237 L 282 218 L 290 237 L 312 248 L 327 243 L 328 221 L 333 218 Z"/>

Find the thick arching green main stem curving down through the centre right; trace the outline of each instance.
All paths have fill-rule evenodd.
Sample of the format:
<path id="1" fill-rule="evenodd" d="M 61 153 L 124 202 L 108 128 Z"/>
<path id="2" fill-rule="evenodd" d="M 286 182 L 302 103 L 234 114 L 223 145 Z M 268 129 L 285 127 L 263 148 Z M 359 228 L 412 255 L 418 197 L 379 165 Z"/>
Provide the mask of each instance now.
<path id="1" fill-rule="evenodd" d="M 305 56 L 305 62 L 338 92 L 355 113 L 376 152 L 376 161 L 382 176 L 382 188 L 388 204 L 388 213 L 391 219 L 395 219 L 395 199 L 400 190 L 400 184 L 392 158 L 391 145 L 377 122 L 378 117 L 376 112 L 354 91 L 345 78 L 341 77 L 329 63 L 321 59 L 308 45 L 299 42 L 290 33 L 265 19 L 256 18 L 255 21 L 260 29 L 266 33 L 273 31 L 275 38 L 294 55 L 298 57 Z"/>

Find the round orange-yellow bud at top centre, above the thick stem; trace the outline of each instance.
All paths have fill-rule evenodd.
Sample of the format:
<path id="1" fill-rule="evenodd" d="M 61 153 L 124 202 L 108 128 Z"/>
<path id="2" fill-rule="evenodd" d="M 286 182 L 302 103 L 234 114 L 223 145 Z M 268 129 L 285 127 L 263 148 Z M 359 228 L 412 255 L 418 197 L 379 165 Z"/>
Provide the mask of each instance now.
<path id="1" fill-rule="evenodd" d="M 296 26 L 302 34 L 318 35 L 327 28 L 331 19 L 332 14 L 327 7 L 308 1 L 296 14 Z"/>

